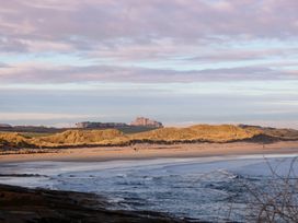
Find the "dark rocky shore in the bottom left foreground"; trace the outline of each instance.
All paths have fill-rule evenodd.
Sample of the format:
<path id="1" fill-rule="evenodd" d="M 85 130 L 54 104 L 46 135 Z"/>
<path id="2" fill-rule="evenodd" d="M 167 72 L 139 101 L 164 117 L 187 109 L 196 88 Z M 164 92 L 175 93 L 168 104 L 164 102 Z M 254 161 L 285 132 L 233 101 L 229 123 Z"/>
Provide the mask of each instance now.
<path id="1" fill-rule="evenodd" d="M 158 212 L 107 210 L 108 206 L 103 198 L 92 193 L 0 185 L 1 223 L 190 222 Z"/>

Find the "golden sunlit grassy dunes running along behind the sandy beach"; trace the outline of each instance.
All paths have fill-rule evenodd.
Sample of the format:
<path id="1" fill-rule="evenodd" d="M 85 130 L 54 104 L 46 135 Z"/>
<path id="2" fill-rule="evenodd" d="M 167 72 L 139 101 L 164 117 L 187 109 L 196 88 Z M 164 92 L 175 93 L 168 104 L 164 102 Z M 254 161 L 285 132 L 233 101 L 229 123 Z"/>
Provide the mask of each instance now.
<path id="1" fill-rule="evenodd" d="M 187 128 L 162 128 L 125 134 L 116 129 L 67 130 L 46 137 L 30 137 L 15 132 L 0 132 L 0 148 L 67 148 L 92 145 L 126 145 L 131 143 L 186 143 L 298 140 L 298 131 L 233 125 L 196 125 Z"/>

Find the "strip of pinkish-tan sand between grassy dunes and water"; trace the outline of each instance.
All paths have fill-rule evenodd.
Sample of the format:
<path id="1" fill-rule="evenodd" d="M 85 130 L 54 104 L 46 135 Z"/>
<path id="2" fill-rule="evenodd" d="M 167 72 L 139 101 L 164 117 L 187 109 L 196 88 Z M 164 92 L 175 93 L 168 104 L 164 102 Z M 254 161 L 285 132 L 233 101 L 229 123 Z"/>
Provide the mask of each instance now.
<path id="1" fill-rule="evenodd" d="M 206 157 L 245 154 L 298 154 L 298 141 L 271 144 L 192 143 L 192 144 L 136 144 L 131 146 L 61 149 L 58 152 L 0 155 L 1 163 L 28 161 L 101 162 L 112 160 L 141 160 L 159 157 Z"/>

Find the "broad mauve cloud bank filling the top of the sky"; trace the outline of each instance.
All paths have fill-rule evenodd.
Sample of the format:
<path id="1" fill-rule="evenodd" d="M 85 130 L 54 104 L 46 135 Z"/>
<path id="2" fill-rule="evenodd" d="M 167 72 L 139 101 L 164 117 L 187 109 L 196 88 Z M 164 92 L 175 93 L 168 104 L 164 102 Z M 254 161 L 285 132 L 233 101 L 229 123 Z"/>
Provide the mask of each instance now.
<path id="1" fill-rule="evenodd" d="M 215 36 L 285 39 L 298 35 L 296 0 L 14 0 L 1 2 L 1 35 L 11 43 L 53 42 L 77 49 L 82 39 L 89 47 L 121 47 L 161 38 L 213 43 Z"/>

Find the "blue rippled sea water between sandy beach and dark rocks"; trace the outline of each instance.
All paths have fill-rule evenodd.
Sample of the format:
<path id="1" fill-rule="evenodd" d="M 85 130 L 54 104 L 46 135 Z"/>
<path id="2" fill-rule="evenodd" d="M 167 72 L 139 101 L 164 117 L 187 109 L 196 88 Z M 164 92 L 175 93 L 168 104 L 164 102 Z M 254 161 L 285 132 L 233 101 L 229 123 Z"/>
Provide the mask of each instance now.
<path id="1" fill-rule="evenodd" d="M 275 192 L 271 188 L 273 179 L 287 176 L 297 155 L 2 164 L 0 174 L 19 176 L 0 177 L 0 184 L 95 192 L 111 201 L 111 209 L 244 222 L 249 215 L 249 190 Z M 291 171 L 293 177 L 298 174 L 296 163 Z"/>

